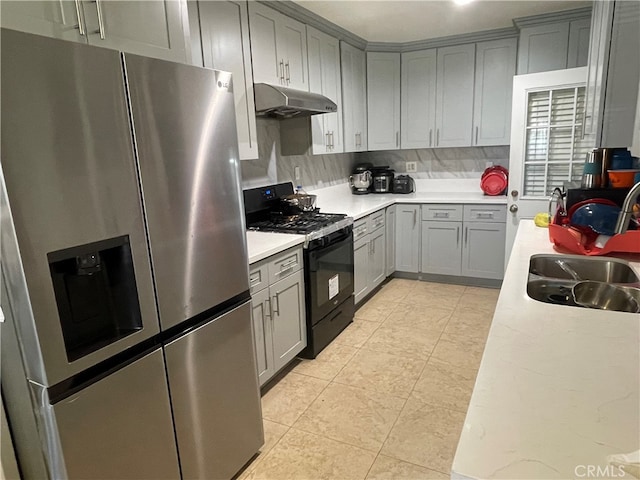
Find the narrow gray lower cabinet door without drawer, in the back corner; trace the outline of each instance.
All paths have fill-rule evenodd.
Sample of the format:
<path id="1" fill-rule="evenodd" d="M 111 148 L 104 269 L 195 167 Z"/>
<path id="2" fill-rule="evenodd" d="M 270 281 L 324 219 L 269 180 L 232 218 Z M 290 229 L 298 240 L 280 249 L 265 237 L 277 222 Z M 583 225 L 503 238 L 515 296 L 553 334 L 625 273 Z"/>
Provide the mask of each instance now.
<path id="1" fill-rule="evenodd" d="M 418 273 L 420 267 L 420 205 L 396 204 L 396 270 Z"/>

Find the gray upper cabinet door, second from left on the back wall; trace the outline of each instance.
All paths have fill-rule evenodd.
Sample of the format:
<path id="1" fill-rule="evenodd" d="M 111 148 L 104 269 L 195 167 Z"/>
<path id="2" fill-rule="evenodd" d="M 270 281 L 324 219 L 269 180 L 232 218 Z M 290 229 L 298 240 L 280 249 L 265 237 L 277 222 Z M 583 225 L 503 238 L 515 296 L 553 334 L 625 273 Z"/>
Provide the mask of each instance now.
<path id="1" fill-rule="evenodd" d="M 436 49 L 402 54 L 400 144 L 434 146 L 436 130 Z"/>

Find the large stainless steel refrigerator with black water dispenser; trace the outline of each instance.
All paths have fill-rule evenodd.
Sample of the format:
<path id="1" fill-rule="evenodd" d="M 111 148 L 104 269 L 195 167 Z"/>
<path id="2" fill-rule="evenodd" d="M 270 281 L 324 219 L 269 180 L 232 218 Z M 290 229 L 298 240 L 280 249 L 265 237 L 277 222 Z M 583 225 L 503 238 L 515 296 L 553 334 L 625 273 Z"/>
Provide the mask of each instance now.
<path id="1" fill-rule="evenodd" d="M 0 378 L 25 476 L 232 477 L 263 431 L 231 75 L 6 29 L 1 48 Z"/>

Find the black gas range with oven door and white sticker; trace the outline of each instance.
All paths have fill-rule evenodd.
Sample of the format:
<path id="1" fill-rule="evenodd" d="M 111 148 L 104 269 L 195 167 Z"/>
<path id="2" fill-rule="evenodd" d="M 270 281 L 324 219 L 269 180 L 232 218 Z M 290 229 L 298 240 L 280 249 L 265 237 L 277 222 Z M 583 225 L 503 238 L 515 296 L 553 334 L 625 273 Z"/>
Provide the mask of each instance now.
<path id="1" fill-rule="evenodd" d="M 245 190 L 247 228 L 305 235 L 307 347 L 302 356 L 315 358 L 353 321 L 353 219 L 318 210 L 287 215 L 280 199 L 291 193 L 291 183 Z"/>

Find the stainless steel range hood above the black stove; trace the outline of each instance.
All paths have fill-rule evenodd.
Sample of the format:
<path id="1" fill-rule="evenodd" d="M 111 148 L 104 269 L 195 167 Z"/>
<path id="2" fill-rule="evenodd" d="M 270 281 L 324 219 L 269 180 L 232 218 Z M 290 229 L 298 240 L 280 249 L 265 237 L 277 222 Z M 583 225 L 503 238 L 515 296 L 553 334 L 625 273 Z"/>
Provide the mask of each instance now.
<path id="1" fill-rule="evenodd" d="M 256 83 L 253 89 L 256 115 L 260 117 L 299 118 L 338 110 L 334 102 L 317 93 L 268 83 Z"/>

